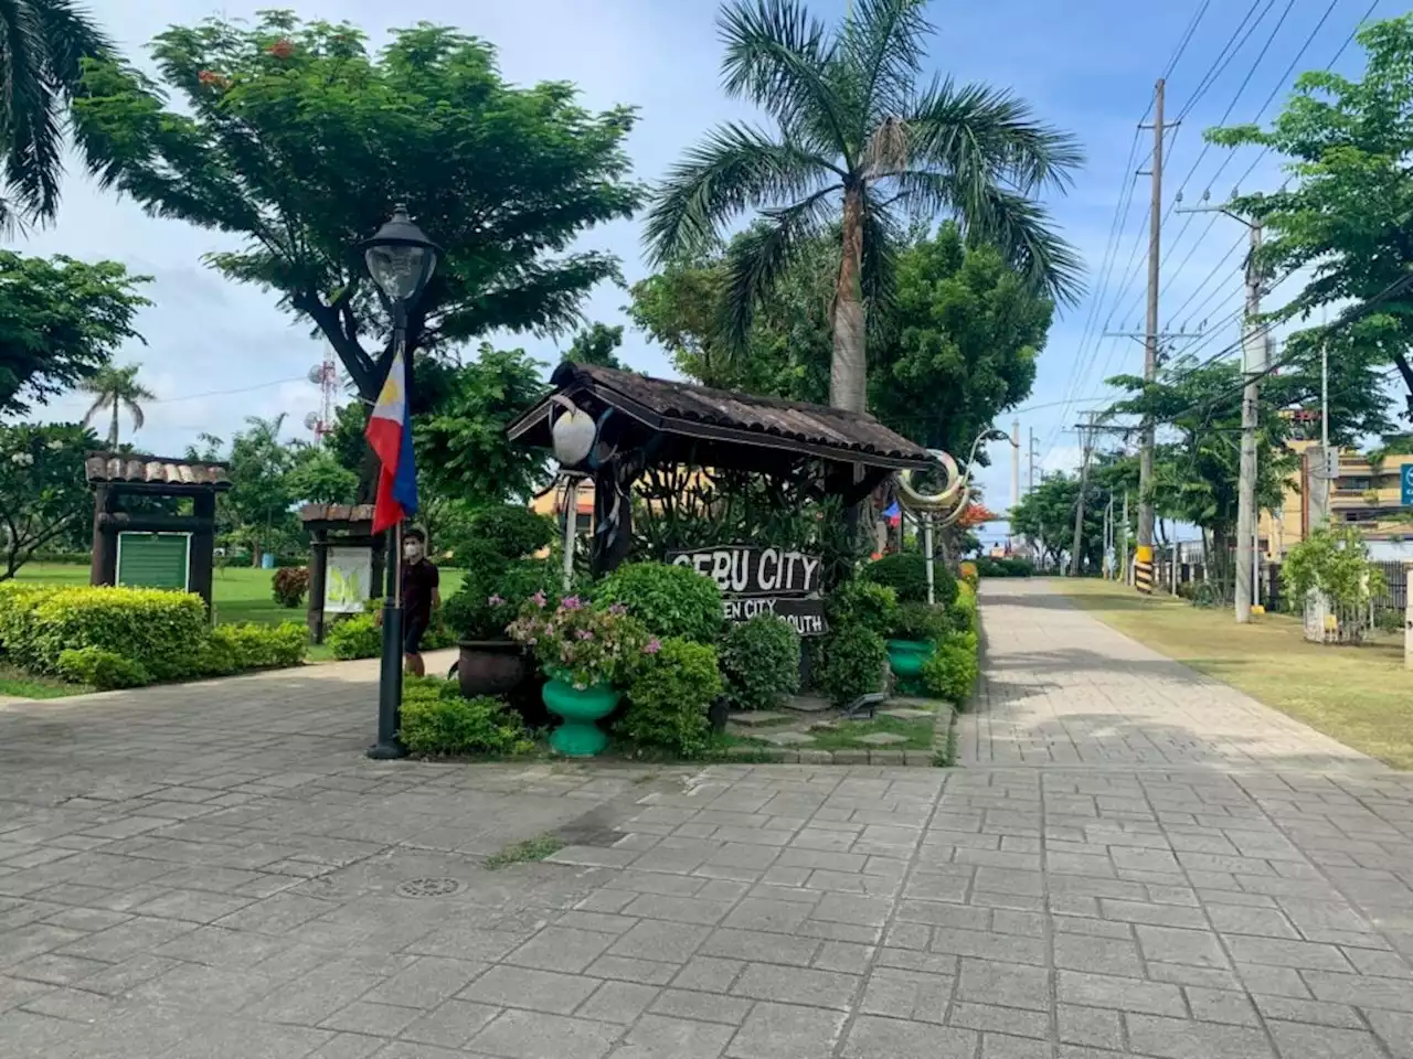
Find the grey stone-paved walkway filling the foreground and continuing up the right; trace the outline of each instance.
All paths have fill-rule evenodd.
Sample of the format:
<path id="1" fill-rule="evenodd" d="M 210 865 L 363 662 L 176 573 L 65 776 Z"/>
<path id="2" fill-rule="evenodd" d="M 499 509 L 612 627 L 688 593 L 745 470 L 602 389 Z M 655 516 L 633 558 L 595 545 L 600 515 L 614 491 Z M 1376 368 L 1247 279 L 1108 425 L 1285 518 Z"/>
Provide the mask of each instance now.
<path id="1" fill-rule="evenodd" d="M 1132 758 L 379 764 L 356 665 L 11 705 L 0 1056 L 1413 1059 L 1413 777 L 1243 699 L 1212 738 L 1082 616 L 1012 638 L 1041 599 L 988 587 L 989 746 Z"/>

